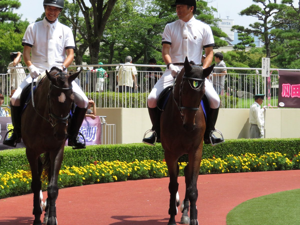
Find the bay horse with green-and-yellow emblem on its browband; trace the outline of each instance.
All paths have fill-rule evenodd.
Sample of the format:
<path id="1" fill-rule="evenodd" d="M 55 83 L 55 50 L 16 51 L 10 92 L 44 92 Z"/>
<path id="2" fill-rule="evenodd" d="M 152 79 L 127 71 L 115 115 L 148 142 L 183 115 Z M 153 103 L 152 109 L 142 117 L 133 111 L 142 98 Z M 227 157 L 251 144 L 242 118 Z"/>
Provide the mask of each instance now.
<path id="1" fill-rule="evenodd" d="M 205 93 L 205 77 L 214 65 L 202 69 L 190 65 L 185 58 L 184 67 L 176 78 L 173 93 L 170 94 L 164 112 L 161 114 L 161 144 L 170 175 L 170 220 L 168 225 L 176 225 L 178 159 L 188 154 L 188 164 L 184 168 L 186 192 L 181 205 L 181 224 L 198 225 L 196 201 L 198 198 L 197 179 L 202 159 L 205 117 L 201 99 Z M 189 208 L 190 202 L 190 208 Z M 187 212 L 190 211 L 190 217 Z"/>

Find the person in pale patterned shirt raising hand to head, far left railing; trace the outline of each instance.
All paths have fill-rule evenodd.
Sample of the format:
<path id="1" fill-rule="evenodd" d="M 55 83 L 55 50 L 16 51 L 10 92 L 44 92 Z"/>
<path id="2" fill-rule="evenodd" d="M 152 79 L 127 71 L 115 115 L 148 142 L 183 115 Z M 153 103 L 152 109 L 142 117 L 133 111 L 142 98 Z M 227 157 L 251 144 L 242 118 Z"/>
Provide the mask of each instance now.
<path id="1" fill-rule="evenodd" d="M 26 78 L 25 70 L 19 67 L 23 67 L 20 63 L 22 60 L 21 52 L 10 52 L 10 60 L 12 61 L 8 67 L 14 67 L 13 69 L 9 69 L 7 73 L 10 73 L 11 80 L 11 88 L 10 91 L 19 87 L 22 81 Z M 13 94 L 13 93 L 12 93 Z"/>

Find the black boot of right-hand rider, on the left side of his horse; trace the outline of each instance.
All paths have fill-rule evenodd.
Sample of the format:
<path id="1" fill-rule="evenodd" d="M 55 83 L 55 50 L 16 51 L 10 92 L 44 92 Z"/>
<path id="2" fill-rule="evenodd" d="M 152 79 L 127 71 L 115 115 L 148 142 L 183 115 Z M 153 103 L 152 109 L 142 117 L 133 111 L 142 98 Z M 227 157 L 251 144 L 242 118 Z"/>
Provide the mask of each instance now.
<path id="1" fill-rule="evenodd" d="M 155 131 L 156 133 L 156 142 L 160 143 L 161 142 L 161 112 L 158 109 L 158 107 L 155 108 L 149 108 L 148 107 L 148 112 L 150 116 L 150 120 L 152 122 L 152 131 Z M 143 143 L 154 145 L 155 143 L 155 134 L 151 134 L 150 137 L 144 138 Z"/>

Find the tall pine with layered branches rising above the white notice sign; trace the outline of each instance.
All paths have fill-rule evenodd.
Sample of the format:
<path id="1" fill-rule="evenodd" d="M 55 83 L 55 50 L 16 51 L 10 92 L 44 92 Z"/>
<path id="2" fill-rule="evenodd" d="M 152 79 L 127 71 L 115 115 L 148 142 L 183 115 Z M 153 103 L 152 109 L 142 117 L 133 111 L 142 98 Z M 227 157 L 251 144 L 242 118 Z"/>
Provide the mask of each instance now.
<path id="1" fill-rule="evenodd" d="M 253 16 L 256 17 L 259 22 L 249 24 L 250 28 L 244 26 L 234 25 L 232 31 L 244 34 L 253 34 L 265 43 L 266 57 L 274 57 L 271 55 L 270 44 L 275 39 L 274 35 L 270 32 L 271 29 L 276 28 L 285 20 L 278 20 L 276 23 L 272 20 L 272 17 L 283 10 L 286 5 L 277 4 L 277 0 L 252 0 L 256 4 L 252 4 L 246 9 L 242 10 L 239 14 L 241 16 Z M 258 3 L 258 4 L 257 4 Z"/>

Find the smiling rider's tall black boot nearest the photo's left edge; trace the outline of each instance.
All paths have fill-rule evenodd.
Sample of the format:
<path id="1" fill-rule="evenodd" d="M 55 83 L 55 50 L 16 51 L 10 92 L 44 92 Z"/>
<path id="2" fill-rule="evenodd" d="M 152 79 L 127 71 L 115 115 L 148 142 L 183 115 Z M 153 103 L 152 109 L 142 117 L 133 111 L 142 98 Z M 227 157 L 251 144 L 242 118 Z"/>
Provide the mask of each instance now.
<path id="1" fill-rule="evenodd" d="M 4 145 L 8 145 L 11 147 L 16 147 L 17 143 L 21 142 L 21 114 L 22 108 L 20 106 L 12 106 L 10 105 L 10 114 L 11 114 L 11 122 L 13 123 L 13 133 L 10 138 L 7 138 L 3 141 Z M 10 132 L 9 130 L 8 132 Z"/>

